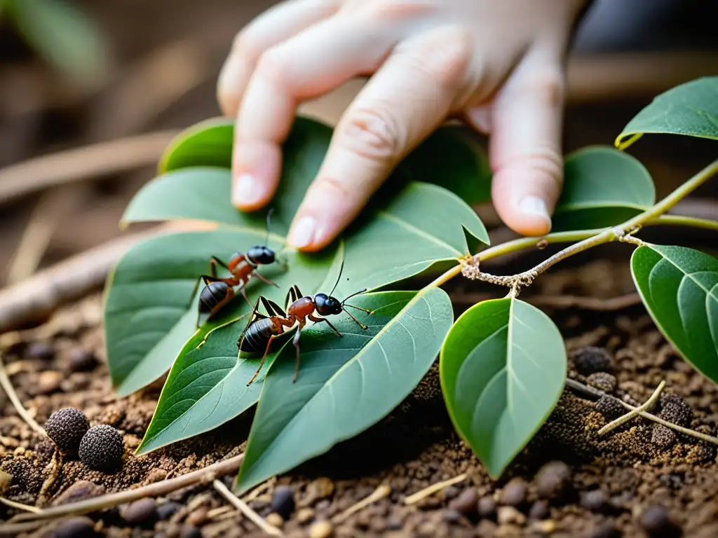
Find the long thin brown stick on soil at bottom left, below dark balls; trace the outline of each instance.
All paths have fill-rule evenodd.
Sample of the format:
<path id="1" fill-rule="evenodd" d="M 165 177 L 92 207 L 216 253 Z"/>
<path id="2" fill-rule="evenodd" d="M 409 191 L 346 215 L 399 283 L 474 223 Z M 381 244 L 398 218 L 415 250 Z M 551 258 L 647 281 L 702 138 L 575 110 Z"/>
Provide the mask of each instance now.
<path id="1" fill-rule="evenodd" d="M 20 514 L 15 516 L 13 521 L 25 522 L 32 519 L 53 519 L 62 516 L 88 514 L 93 511 L 103 510 L 117 506 L 118 504 L 129 503 L 144 497 L 158 497 L 167 495 L 177 489 L 187 486 L 194 486 L 196 483 L 213 481 L 218 476 L 224 476 L 228 473 L 237 471 L 244 459 L 244 454 L 233 456 L 227 460 L 218 461 L 210 466 L 191 473 L 176 476 L 169 480 L 163 480 L 142 486 L 137 489 L 129 489 L 126 491 L 118 491 L 116 493 L 85 499 L 71 504 L 63 504 L 61 506 L 53 506 L 52 508 L 43 509 L 37 514 Z M 4 529 L 3 529 L 4 530 Z"/>

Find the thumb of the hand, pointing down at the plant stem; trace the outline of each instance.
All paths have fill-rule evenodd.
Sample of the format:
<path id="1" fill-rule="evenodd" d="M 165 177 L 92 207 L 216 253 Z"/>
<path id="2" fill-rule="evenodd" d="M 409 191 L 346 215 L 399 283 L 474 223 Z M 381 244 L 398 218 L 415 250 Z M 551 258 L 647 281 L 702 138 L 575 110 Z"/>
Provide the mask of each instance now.
<path id="1" fill-rule="evenodd" d="M 494 103 L 491 195 L 501 220 L 522 235 L 551 231 L 551 213 L 563 182 L 563 106 L 558 59 L 535 57 L 526 57 Z"/>

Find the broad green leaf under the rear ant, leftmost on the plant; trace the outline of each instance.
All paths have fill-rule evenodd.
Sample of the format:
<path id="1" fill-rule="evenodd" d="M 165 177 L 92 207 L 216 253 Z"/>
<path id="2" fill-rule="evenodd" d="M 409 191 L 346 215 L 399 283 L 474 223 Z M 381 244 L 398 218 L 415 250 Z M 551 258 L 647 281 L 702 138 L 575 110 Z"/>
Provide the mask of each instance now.
<path id="1" fill-rule="evenodd" d="M 108 280 L 105 300 L 105 331 L 111 379 L 119 395 L 128 395 L 167 372 L 185 341 L 195 334 L 197 296 L 190 305 L 190 293 L 199 275 L 208 271 L 212 255 L 226 258 L 238 245 L 264 242 L 263 231 L 216 230 L 161 235 L 131 248 L 119 261 Z M 316 292 L 325 280 L 335 249 L 321 255 L 304 255 L 283 250 L 284 245 L 271 240 L 291 265 L 291 272 L 276 266 L 262 268 L 261 273 L 281 288 L 265 285 L 255 279 L 247 293 L 262 293 L 284 302 L 286 289 L 301 283 L 306 292 Z M 296 279 L 296 280 L 295 280 Z M 248 313 L 241 297 L 227 307 L 229 318 Z M 201 341 L 217 324 L 202 326 L 195 337 Z"/>

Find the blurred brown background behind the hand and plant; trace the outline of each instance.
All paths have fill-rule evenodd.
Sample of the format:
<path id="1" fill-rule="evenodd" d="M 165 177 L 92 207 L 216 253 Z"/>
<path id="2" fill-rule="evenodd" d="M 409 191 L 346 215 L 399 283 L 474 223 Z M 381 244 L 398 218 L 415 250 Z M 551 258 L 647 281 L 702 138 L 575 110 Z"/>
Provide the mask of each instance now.
<path id="1" fill-rule="evenodd" d="M 0 0 L 0 286 L 121 235 L 172 135 L 218 115 L 234 34 L 273 3 Z M 657 93 L 717 75 L 717 14 L 710 0 L 596 0 L 569 59 L 565 150 L 610 144 Z M 305 110 L 335 121 L 359 85 Z M 663 194 L 716 146 L 645 137 L 631 151 Z"/>

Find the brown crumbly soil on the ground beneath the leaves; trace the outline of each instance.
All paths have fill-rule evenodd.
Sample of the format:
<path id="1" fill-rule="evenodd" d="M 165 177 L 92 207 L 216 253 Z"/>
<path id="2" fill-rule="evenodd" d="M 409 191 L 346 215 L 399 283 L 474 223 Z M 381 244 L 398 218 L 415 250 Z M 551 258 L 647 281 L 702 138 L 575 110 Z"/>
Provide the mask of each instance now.
<path id="1" fill-rule="evenodd" d="M 532 293 L 608 298 L 630 291 L 625 260 L 594 260 L 580 271 L 567 268 L 544 275 Z M 531 300 L 528 293 L 526 297 Z M 85 411 L 93 425 L 118 428 L 127 447 L 123 468 L 117 473 L 101 473 L 73 458 L 53 463 L 52 443 L 33 433 L 9 402 L 3 401 L 0 469 L 13 477 L 5 492 L 11 500 L 39 506 L 76 501 L 177 476 L 243 450 L 251 413 L 208 435 L 139 458 L 132 456 L 161 387 L 157 384 L 125 399 L 113 394 L 103 363 L 100 308 L 100 298 L 93 296 L 61 311 L 52 321 L 53 329 L 45 329 L 49 337 L 31 337 L 11 346 L 6 368 L 20 400 L 39 423 L 54 410 L 72 406 Z M 634 404 L 647 400 L 665 379 L 663 409 L 658 407 L 655 412 L 668 412 L 668 407 L 676 405 L 675 397 L 668 395 L 676 395 L 692 411 L 692 419 L 688 415 L 692 428 L 715 433 L 717 388 L 676 355 L 642 306 L 609 313 L 569 308 L 551 315 L 567 337 L 569 377 L 612 390 Z M 591 352 L 598 353 L 595 348 L 604 351 L 603 360 L 589 357 Z M 587 381 L 577 371 L 577 364 L 582 374 L 589 373 L 587 364 L 607 373 L 593 373 Z M 391 487 L 388 497 L 343 522 L 330 523 L 333 535 L 598 538 L 677 536 L 682 532 L 689 537 L 715 536 L 718 468 L 714 445 L 666 434 L 640 418 L 599 436 L 597 431 L 611 417 L 604 417 L 598 407 L 587 397 L 566 390 L 544 428 L 505 476 L 494 482 L 454 433 L 434 367 L 381 423 L 269 481 L 248 504 L 269 521 L 276 521 L 278 514 L 270 515 L 272 494 L 289 486 L 294 511 L 286 514 L 286 502 L 284 507 L 275 506 L 285 511 L 286 521 L 279 518 L 278 522 L 284 533 L 321 536 L 322 525 L 386 483 Z M 539 473 L 547 463 L 556 461 L 562 464 L 551 463 Z M 465 481 L 405 506 L 406 496 L 461 473 L 467 474 Z M 48 481 L 49 476 L 55 476 L 54 481 Z M 229 485 L 233 476 L 224 479 Z M 169 516 L 144 526 L 127 522 L 126 518 L 133 521 L 134 516 L 126 512 L 126 506 L 90 517 L 95 529 L 108 537 L 190 536 L 194 528 L 205 538 L 263 535 L 208 485 L 155 501 Z M 495 507 L 496 501 L 498 516 L 490 506 Z M 16 513 L 0 507 L 0 519 L 5 521 Z M 49 528 L 23 536 L 43 536 Z M 653 529 L 653 534 L 646 529 Z"/>

